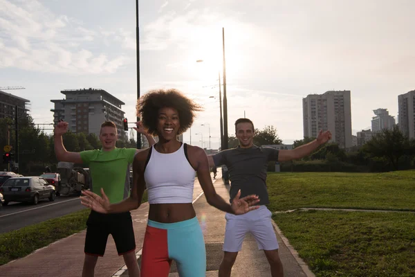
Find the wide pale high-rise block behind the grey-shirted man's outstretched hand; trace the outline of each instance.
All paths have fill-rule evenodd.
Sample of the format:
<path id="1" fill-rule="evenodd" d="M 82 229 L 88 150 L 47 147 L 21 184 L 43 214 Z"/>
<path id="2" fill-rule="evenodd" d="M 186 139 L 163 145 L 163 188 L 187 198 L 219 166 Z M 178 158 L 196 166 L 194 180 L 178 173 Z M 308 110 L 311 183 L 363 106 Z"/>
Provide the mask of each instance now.
<path id="1" fill-rule="evenodd" d="M 326 91 L 303 98 L 304 136 L 317 137 L 320 129 L 331 132 L 331 141 L 341 148 L 350 148 L 350 91 Z"/>

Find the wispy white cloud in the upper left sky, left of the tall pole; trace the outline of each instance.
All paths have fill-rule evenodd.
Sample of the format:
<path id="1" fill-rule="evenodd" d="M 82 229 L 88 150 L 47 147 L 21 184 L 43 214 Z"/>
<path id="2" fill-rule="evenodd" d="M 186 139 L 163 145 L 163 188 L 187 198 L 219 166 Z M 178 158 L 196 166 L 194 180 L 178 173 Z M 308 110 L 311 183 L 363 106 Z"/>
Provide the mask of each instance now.
<path id="1" fill-rule="evenodd" d="M 0 0 L 0 69 L 15 67 L 55 73 L 113 73 L 123 55 L 93 53 L 85 44 L 112 35 L 91 30 L 82 21 L 55 15 L 35 0 Z M 131 48 L 131 42 L 124 43 Z"/>

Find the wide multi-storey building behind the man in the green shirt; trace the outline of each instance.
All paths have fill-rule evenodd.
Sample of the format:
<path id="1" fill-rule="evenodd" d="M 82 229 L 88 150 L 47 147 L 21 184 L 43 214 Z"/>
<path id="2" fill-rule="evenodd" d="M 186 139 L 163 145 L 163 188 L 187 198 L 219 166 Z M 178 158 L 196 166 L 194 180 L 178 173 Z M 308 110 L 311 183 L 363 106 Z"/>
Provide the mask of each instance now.
<path id="1" fill-rule="evenodd" d="M 124 102 L 103 89 L 66 89 L 62 100 L 50 100 L 55 103 L 53 122 L 59 119 L 69 123 L 71 132 L 100 135 L 100 126 L 104 121 L 116 123 L 118 133 L 124 129 L 122 118 Z M 134 118 L 135 121 L 135 118 Z"/>

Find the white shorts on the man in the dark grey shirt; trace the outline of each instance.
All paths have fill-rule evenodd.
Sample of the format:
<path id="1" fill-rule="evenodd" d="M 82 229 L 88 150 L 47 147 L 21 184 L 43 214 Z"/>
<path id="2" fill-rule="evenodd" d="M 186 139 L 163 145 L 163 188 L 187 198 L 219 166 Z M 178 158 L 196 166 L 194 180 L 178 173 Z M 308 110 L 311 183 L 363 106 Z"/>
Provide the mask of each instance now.
<path id="1" fill-rule="evenodd" d="M 271 223 L 272 213 L 266 206 L 243 215 L 226 213 L 226 231 L 223 251 L 239 252 L 246 233 L 252 233 L 259 250 L 278 249 L 277 236 Z"/>

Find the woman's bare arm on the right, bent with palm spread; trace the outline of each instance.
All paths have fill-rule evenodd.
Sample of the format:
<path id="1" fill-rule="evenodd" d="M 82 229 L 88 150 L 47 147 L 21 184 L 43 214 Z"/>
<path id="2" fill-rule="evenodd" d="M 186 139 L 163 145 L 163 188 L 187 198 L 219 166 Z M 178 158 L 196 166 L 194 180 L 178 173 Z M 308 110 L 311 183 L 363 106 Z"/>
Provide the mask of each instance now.
<path id="1" fill-rule="evenodd" d="M 219 210 L 226 213 L 233 214 L 248 213 L 248 211 L 252 211 L 258 208 L 257 206 L 252 206 L 259 202 L 259 199 L 256 195 L 249 195 L 239 199 L 239 195 L 241 195 L 240 192 L 236 197 L 234 197 L 232 204 L 228 204 L 228 202 L 226 202 L 220 195 L 218 195 L 214 189 L 212 179 L 210 178 L 210 165 L 205 151 L 201 148 L 190 145 L 187 149 L 190 162 L 197 172 L 197 177 L 203 189 L 203 193 L 205 193 L 206 200 L 211 206 L 214 206 L 215 208 L 218 208 Z"/>

